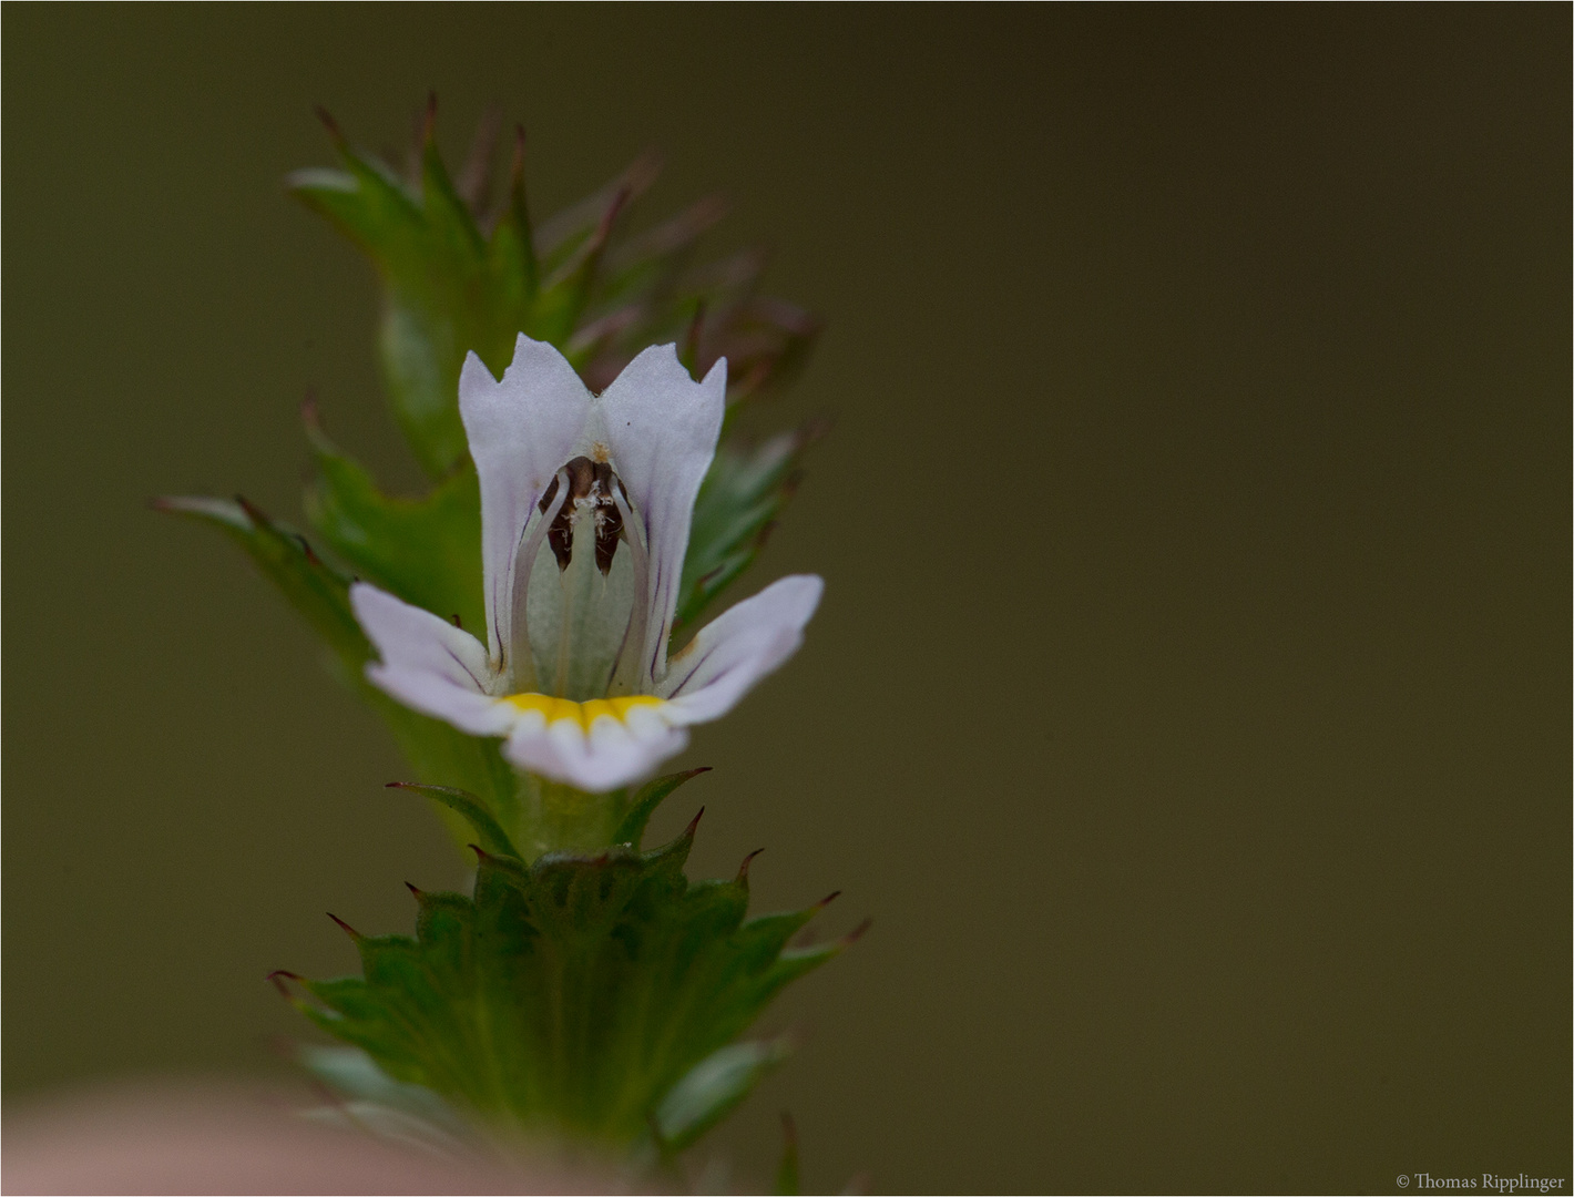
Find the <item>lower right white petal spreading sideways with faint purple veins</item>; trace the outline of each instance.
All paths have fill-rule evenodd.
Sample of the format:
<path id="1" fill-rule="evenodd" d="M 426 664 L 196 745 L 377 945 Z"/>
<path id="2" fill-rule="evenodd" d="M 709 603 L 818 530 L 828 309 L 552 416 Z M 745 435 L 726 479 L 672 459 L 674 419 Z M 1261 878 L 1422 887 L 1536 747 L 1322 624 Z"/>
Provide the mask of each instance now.
<path id="1" fill-rule="evenodd" d="M 674 724 L 719 719 L 767 673 L 798 651 L 803 628 L 820 604 L 825 582 L 793 574 L 765 587 L 705 624 L 672 657 L 658 694 Z"/>

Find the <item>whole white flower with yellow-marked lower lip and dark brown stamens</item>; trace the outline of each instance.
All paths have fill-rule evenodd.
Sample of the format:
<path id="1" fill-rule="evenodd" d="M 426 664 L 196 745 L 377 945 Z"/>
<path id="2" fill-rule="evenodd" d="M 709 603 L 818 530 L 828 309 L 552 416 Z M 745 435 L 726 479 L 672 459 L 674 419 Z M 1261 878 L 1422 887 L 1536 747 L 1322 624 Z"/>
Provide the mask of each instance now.
<path id="1" fill-rule="evenodd" d="M 351 588 L 400 702 L 579 790 L 642 777 L 730 711 L 803 642 L 814 576 L 737 604 L 667 659 L 689 521 L 721 433 L 727 379 L 645 349 L 600 396 L 521 335 L 496 381 L 475 354 L 460 415 L 480 477 L 486 643 L 376 587 Z"/>

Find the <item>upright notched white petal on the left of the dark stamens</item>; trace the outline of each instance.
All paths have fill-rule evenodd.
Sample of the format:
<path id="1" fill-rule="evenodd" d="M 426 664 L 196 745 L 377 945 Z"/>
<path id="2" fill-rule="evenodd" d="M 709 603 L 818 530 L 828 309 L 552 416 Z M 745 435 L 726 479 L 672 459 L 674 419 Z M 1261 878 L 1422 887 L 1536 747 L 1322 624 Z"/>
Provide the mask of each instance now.
<path id="1" fill-rule="evenodd" d="M 524 333 L 501 382 L 475 354 L 464 359 L 460 417 L 480 478 L 486 642 L 493 661 L 502 661 L 515 643 L 513 579 L 526 524 L 538 514 L 535 505 L 552 475 L 573 456 L 590 403 L 590 392 L 568 359 Z"/>

